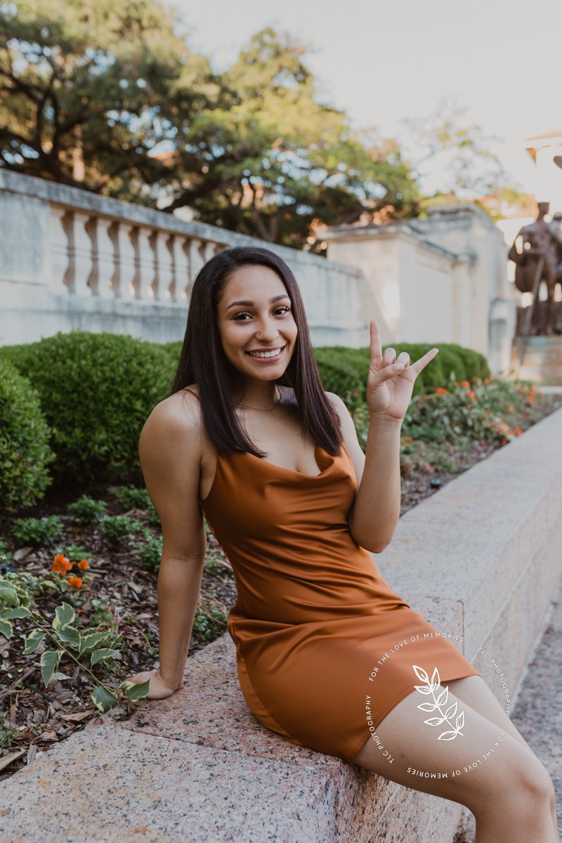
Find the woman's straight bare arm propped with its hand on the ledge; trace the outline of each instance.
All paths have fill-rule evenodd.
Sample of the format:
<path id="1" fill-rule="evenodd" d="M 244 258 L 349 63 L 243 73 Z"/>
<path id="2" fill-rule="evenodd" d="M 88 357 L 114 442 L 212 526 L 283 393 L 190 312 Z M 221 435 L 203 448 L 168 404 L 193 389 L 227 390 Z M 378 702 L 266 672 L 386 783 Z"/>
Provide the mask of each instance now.
<path id="1" fill-rule="evenodd" d="M 136 674 L 132 681 L 150 679 L 151 699 L 169 696 L 183 685 L 206 550 L 199 506 L 204 450 L 199 402 L 189 393 L 172 395 L 159 404 L 142 430 L 142 472 L 163 532 L 158 573 L 160 668 Z"/>

